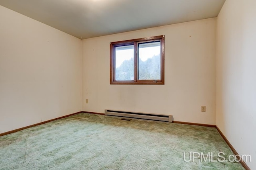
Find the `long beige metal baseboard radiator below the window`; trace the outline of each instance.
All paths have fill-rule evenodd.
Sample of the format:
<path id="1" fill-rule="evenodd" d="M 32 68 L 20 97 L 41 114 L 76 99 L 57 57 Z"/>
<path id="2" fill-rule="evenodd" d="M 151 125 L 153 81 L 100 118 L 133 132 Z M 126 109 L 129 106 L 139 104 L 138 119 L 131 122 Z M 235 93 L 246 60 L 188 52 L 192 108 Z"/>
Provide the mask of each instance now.
<path id="1" fill-rule="evenodd" d="M 118 110 L 110 110 L 110 109 L 105 109 L 105 115 L 172 122 L 172 115 L 118 111 Z"/>

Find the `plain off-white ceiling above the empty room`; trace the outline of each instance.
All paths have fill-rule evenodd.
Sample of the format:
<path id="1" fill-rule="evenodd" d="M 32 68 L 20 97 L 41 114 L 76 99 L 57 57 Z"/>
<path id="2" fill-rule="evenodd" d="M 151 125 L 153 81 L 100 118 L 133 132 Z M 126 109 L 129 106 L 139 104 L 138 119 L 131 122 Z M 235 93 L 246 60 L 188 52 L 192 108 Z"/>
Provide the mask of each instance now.
<path id="1" fill-rule="evenodd" d="M 218 16 L 225 0 L 0 0 L 80 39 Z"/>

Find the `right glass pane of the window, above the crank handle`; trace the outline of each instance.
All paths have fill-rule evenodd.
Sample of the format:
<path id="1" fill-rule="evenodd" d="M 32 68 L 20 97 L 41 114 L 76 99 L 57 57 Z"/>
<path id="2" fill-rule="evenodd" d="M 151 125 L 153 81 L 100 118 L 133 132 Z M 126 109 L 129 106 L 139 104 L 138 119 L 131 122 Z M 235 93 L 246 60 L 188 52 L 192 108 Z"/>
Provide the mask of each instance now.
<path id="1" fill-rule="evenodd" d="M 160 80 L 161 42 L 138 44 L 138 80 Z"/>

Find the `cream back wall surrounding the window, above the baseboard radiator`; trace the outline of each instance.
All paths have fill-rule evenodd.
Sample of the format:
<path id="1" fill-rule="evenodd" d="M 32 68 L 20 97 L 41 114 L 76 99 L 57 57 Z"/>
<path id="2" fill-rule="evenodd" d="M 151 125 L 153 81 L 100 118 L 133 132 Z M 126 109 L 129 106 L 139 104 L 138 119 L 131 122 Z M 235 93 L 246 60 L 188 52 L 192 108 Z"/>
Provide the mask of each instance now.
<path id="1" fill-rule="evenodd" d="M 156 35 L 165 35 L 165 85 L 110 85 L 110 42 Z M 216 18 L 84 39 L 82 62 L 83 111 L 172 114 L 215 125 Z"/>

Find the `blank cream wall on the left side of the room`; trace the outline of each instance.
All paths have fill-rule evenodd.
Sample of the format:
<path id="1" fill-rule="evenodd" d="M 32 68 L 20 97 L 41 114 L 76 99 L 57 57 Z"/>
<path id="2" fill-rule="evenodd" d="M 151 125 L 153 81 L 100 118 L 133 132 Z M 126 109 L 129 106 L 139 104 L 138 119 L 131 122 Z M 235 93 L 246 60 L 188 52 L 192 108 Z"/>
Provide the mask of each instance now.
<path id="1" fill-rule="evenodd" d="M 81 47 L 0 6 L 0 133 L 82 110 Z"/>

